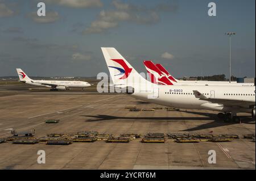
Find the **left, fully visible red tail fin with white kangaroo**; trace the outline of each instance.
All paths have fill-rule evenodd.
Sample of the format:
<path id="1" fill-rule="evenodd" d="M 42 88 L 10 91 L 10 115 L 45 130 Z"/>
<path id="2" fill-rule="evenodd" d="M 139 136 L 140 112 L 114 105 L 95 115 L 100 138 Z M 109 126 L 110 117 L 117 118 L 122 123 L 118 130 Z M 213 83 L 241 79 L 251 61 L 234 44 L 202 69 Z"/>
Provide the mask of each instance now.
<path id="1" fill-rule="evenodd" d="M 173 83 L 160 71 L 152 61 L 143 61 L 152 83 L 160 85 L 173 85 Z"/>

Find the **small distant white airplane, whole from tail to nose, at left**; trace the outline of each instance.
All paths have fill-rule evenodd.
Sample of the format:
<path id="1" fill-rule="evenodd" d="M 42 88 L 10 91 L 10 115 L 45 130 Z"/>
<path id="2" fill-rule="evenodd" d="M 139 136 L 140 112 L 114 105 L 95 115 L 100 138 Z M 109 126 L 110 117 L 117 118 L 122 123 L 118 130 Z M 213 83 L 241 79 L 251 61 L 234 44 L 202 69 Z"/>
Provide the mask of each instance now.
<path id="1" fill-rule="evenodd" d="M 90 84 L 84 81 L 46 81 L 46 80 L 33 80 L 27 76 L 22 69 L 16 69 L 19 75 L 19 81 L 27 83 L 32 86 L 49 87 L 51 90 L 65 90 L 66 88 L 85 88 Z"/>

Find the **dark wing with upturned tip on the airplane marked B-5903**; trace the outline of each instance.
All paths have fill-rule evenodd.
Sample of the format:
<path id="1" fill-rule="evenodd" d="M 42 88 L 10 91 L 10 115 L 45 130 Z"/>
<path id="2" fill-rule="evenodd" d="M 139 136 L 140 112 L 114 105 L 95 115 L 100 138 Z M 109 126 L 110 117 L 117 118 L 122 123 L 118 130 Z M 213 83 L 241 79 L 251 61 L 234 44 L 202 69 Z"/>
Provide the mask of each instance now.
<path id="1" fill-rule="evenodd" d="M 255 101 L 253 100 L 238 100 L 238 99 L 218 99 L 218 98 L 208 98 L 207 96 L 201 94 L 201 92 L 194 90 L 193 91 L 196 98 L 199 98 L 201 100 L 207 100 L 211 103 L 217 103 L 222 104 L 223 106 L 236 106 L 236 107 L 243 107 L 243 108 L 249 108 L 255 106 Z"/>

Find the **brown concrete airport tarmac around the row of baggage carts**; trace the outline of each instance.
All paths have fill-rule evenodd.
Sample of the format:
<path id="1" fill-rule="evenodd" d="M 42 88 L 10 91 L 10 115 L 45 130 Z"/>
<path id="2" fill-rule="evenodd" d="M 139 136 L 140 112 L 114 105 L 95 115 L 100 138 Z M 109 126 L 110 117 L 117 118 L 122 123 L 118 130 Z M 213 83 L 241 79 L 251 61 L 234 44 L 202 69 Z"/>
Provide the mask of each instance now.
<path id="1" fill-rule="evenodd" d="M 8 89 L 6 87 L 9 87 Z M 180 110 L 130 112 L 137 108 L 161 107 L 127 95 L 96 94 L 84 91 L 29 91 L 27 87 L 0 86 L 0 137 L 11 136 L 10 129 L 36 129 L 36 136 L 48 133 L 175 132 L 216 134 L 255 134 L 255 120 L 239 114 L 241 124 L 218 121 L 216 112 Z M 59 119 L 57 124 L 44 123 Z M 38 150 L 46 151 L 46 163 L 39 164 Z M 216 151 L 216 163 L 208 163 L 208 151 Z M 255 169 L 255 142 L 143 144 L 84 142 L 71 145 L 0 144 L 0 169 Z"/>

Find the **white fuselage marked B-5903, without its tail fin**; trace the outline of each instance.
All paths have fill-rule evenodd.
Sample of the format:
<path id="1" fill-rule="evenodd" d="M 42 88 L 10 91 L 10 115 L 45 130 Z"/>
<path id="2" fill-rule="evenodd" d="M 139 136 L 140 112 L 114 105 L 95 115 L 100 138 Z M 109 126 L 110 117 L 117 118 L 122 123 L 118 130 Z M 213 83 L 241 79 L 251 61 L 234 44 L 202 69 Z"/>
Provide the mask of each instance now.
<path id="1" fill-rule="evenodd" d="M 249 107 L 224 107 L 222 104 L 210 103 L 200 100 L 193 94 L 193 90 L 200 91 L 209 98 L 234 99 L 254 101 L 255 105 L 255 86 L 158 86 L 151 91 L 135 91 L 135 98 L 146 102 L 160 104 L 185 109 L 205 109 L 222 112 L 248 112 Z"/>

